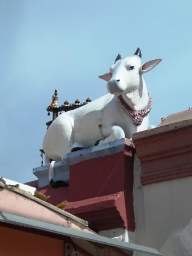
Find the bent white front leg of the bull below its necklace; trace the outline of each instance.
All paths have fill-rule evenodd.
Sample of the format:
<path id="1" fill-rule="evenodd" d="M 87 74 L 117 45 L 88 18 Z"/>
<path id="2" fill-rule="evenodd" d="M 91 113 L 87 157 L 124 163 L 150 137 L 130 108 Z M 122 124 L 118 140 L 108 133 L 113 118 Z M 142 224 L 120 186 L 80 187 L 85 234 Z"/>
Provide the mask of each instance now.
<path id="1" fill-rule="evenodd" d="M 107 136 L 105 139 L 99 141 L 98 145 L 101 146 L 105 143 L 109 143 L 112 141 L 117 141 L 118 139 L 125 138 L 125 133 L 123 129 L 118 125 L 111 125 L 110 126 L 110 135 Z"/>

